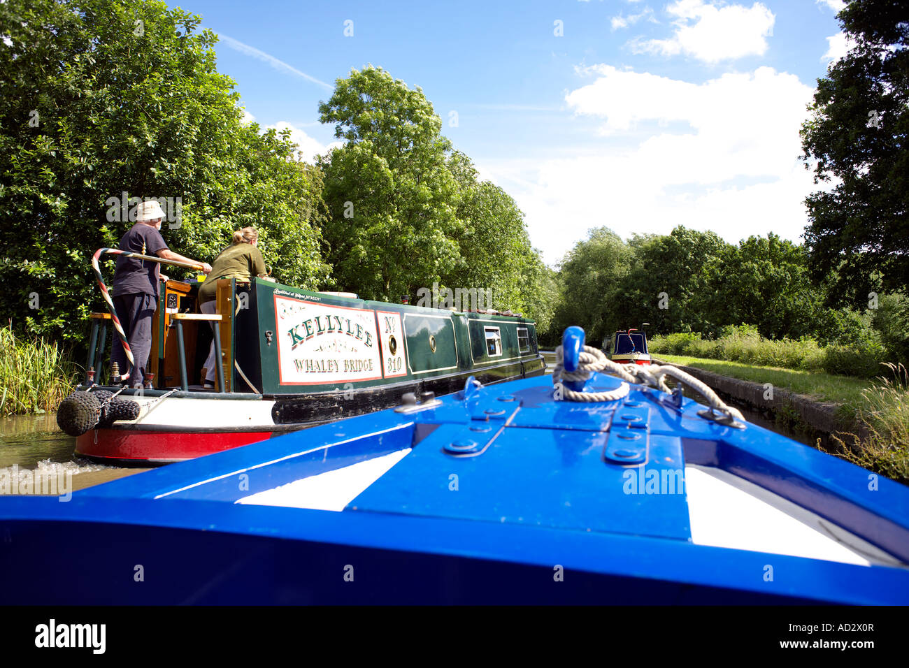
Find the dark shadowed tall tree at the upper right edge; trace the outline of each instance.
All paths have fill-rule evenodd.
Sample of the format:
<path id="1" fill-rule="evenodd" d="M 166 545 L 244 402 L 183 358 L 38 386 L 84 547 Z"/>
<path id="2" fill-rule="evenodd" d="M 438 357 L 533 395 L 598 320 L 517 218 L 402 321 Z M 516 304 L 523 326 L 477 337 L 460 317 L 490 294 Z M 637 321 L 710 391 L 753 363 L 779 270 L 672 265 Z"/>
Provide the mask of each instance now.
<path id="1" fill-rule="evenodd" d="M 802 128 L 806 167 L 832 189 L 808 196 L 816 281 L 835 303 L 909 284 L 909 5 L 853 0 L 837 15 L 854 48 L 817 82 Z"/>

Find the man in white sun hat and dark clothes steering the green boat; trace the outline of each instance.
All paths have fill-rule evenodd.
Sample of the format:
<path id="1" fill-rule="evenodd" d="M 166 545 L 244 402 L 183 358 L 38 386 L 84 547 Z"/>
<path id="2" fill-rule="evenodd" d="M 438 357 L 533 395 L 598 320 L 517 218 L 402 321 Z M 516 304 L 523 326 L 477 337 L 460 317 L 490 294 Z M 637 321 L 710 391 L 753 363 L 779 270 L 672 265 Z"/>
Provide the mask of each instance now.
<path id="1" fill-rule="evenodd" d="M 205 274 L 212 271 L 211 264 L 190 260 L 167 247 L 164 237 L 159 232 L 164 217 L 165 213 L 157 201 L 149 200 L 138 204 L 135 225 L 120 239 L 120 250 L 157 255 L 164 260 L 202 264 Z M 156 262 L 117 256 L 111 296 L 135 359 L 136 368 L 129 377 L 129 384 L 133 387 L 142 387 L 145 364 L 148 363 L 148 354 L 152 351 L 152 315 L 155 314 L 157 307 L 160 274 L 161 265 Z M 114 362 L 119 365 L 121 373 L 125 373 L 129 368 L 123 344 L 118 336 L 114 337 L 111 346 L 111 363 Z"/>

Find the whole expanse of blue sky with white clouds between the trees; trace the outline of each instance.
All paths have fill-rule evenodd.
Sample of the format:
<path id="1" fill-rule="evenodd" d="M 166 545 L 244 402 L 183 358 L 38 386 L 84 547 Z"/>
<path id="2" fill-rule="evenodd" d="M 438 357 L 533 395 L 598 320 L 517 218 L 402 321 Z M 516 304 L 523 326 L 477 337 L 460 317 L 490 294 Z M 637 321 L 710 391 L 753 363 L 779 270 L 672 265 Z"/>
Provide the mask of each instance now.
<path id="1" fill-rule="evenodd" d="M 816 187 L 799 125 L 844 50 L 840 0 L 181 6 L 222 36 L 218 70 L 247 112 L 290 126 L 305 155 L 334 141 L 317 105 L 351 68 L 422 87 L 550 264 L 599 225 L 799 240 Z"/>

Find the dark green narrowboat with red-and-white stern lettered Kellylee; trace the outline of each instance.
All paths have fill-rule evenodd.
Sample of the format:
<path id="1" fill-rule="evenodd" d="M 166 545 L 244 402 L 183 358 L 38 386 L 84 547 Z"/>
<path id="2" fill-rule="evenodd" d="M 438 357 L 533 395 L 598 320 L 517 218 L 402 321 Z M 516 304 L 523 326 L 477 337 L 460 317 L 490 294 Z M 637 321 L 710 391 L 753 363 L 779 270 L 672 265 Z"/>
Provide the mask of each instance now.
<path id="1" fill-rule="evenodd" d="M 106 298 L 97 264 L 105 252 L 122 252 L 95 254 Z M 92 314 L 88 373 L 57 414 L 79 456 L 168 464 L 388 408 L 405 393 L 450 394 L 470 375 L 489 384 L 544 374 L 534 321 L 508 311 L 389 304 L 221 278 L 212 315 L 198 313 L 198 283 L 159 287 L 145 388 L 101 380 L 95 367 L 105 363 L 107 323 L 113 335 L 119 324 L 109 301 L 111 313 Z M 220 380 L 205 389 L 191 381 L 212 332 Z"/>

